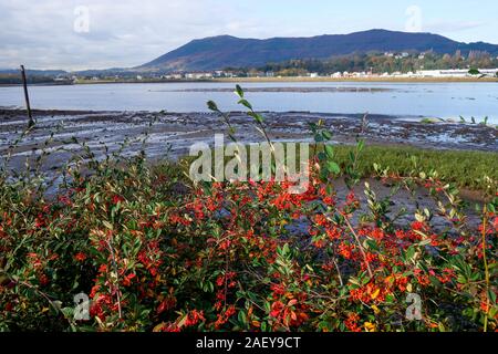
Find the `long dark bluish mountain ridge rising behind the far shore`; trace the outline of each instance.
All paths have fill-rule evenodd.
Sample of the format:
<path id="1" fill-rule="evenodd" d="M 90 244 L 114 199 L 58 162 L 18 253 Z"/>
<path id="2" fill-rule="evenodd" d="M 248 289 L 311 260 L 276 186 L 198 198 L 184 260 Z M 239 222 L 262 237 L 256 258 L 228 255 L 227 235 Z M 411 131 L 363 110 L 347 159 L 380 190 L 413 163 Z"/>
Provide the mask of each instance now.
<path id="1" fill-rule="evenodd" d="M 224 67 L 261 66 L 269 62 L 292 59 L 328 59 L 366 52 L 424 52 L 464 54 L 487 51 L 498 55 L 498 45 L 477 42 L 461 43 L 432 33 L 405 33 L 371 30 L 351 34 L 312 38 L 240 39 L 230 35 L 194 40 L 137 69 L 141 70 L 220 70 Z"/>

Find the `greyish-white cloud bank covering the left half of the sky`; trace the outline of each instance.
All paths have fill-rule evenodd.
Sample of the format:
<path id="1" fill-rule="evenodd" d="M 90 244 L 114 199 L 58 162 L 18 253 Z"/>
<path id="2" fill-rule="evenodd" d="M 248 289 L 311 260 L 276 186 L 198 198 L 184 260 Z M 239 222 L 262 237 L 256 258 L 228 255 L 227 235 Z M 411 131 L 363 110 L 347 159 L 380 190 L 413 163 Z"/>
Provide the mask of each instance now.
<path id="1" fill-rule="evenodd" d="M 74 31 L 79 6 L 87 33 Z M 134 66 L 195 38 L 258 29 L 217 0 L 0 0 L 0 67 Z"/>

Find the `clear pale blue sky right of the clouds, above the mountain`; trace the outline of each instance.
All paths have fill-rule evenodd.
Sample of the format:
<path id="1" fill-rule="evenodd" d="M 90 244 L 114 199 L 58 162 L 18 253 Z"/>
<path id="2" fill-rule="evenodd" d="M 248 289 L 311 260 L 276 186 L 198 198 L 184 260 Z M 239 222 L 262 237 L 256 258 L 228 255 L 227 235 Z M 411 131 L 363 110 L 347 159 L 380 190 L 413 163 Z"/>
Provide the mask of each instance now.
<path id="1" fill-rule="evenodd" d="M 346 33 L 372 28 L 405 30 L 411 18 L 406 11 L 416 7 L 419 9 L 421 27 L 424 32 L 435 32 L 465 42 L 478 40 L 498 42 L 498 2 L 496 0 L 242 2 L 266 3 L 257 7 L 256 18 L 269 21 L 272 18 L 279 18 L 279 22 L 287 20 L 289 24 L 284 25 L 288 30 L 295 25 L 297 32 L 307 34 Z"/>

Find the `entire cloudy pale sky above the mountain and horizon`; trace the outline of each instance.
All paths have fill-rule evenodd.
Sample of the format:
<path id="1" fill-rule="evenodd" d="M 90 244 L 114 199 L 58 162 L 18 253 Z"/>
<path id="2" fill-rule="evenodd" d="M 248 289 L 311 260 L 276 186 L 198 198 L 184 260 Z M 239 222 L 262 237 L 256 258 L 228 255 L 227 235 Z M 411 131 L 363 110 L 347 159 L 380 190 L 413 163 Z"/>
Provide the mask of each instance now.
<path id="1" fill-rule="evenodd" d="M 0 67 L 107 69 L 190 40 L 432 32 L 498 44 L 496 0 L 0 0 Z"/>

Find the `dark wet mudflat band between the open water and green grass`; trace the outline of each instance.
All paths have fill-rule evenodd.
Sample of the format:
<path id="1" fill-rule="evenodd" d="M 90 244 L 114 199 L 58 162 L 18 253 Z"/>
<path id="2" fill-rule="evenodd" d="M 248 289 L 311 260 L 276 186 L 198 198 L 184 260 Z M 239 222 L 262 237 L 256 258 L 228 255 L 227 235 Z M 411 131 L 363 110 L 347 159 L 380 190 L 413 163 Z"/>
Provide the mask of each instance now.
<path id="1" fill-rule="evenodd" d="M 219 116 L 208 112 L 33 110 L 32 113 L 37 119 L 33 133 L 38 142 L 62 124 L 61 134 L 66 137 L 74 135 L 95 144 L 102 140 L 117 144 L 127 137 L 136 137 L 153 123 L 153 145 L 173 143 L 179 152 L 195 142 L 210 143 L 215 134 L 226 132 Z M 354 144 L 356 137 L 361 136 L 370 144 L 382 146 L 498 152 L 498 128 L 483 124 L 455 121 L 427 123 L 423 116 L 382 114 L 370 114 L 363 122 L 364 113 L 260 113 L 264 115 L 267 128 L 277 140 L 308 140 L 311 136 L 309 124 L 322 119 L 333 132 L 335 144 Z M 227 114 L 242 142 L 260 139 L 245 112 L 232 111 Z M 9 140 L 25 128 L 27 122 L 25 110 L 0 107 L 0 155 Z M 32 147 L 30 144 L 28 146 Z"/>

